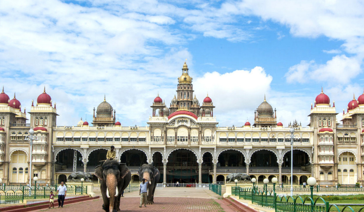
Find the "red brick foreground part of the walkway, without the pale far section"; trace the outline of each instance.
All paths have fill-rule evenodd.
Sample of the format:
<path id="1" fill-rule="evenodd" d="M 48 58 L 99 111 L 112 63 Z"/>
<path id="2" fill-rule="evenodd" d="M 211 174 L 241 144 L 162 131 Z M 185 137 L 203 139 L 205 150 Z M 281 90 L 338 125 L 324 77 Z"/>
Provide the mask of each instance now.
<path id="1" fill-rule="evenodd" d="M 123 197 L 121 199 L 123 212 L 134 211 L 168 211 L 168 212 L 233 212 L 237 211 L 226 201 L 219 199 L 202 199 L 202 198 L 188 198 L 188 197 L 154 197 L 155 204 L 147 205 L 147 207 L 139 208 L 138 197 Z M 66 201 L 65 201 L 66 203 Z M 81 203 L 72 203 L 63 205 L 63 208 L 42 209 L 38 211 L 84 211 L 84 212 L 104 212 L 102 209 L 102 198 L 96 200 L 84 201 Z"/>

